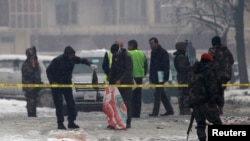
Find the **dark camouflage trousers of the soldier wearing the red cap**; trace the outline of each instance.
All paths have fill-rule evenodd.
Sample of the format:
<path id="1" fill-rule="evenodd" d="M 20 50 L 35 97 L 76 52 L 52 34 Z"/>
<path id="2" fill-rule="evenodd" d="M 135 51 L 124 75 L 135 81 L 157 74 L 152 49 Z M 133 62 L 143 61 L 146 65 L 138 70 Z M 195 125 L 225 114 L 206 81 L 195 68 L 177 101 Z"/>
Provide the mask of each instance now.
<path id="1" fill-rule="evenodd" d="M 197 136 L 200 141 L 206 141 L 206 120 L 213 125 L 221 125 L 220 113 L 217 104 L 200 104 L 194 106 L 193 109 L 194 118 L 197 123 Z"/>

